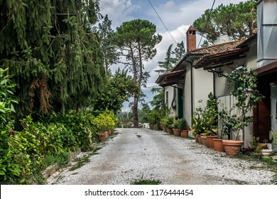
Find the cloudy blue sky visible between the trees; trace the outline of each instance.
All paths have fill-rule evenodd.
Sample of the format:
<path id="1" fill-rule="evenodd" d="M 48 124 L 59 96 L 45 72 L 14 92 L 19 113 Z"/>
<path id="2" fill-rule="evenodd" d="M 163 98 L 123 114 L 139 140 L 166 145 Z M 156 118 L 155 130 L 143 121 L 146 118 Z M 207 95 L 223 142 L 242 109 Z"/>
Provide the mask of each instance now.
<path id="1" fill-rule="evenodd" d="M 158 15 L 165 23 L 174 40 L 178 43 L 185 42 L 185 33 L 188 27 L 199 18 L 207 9 L 212 7 L 214 0 L 150 0 Z M 216 0 L 214 8 L 220 4 L 238 4 L 243 0 Z M 156 45 L 157 55 L 153 60 L 144 63 L 144 68 L 151 72 L 148 80 L 148 87 L 156 86 L 155 81 L 158 73 L 158 62 L 163 61 L 165 52 L 170 44 L 174 44 L 173 38 L 163 26 L 163 23 L 153 11 L 148 0 L 100 0 L 100 9 L 102 15 L 108 14 L 112 20 L 112 28 L 120 26 L 125 21 L 131 21 L 136 18 L 146 19 L 156 25 L 157 33 L 163 36 L 161 43 Z M 197 44 L 201 36 L 197 35 Z M 186 42 L 185 42 L 186 45 Z M 175 48 L 175 44 L 173 45 Z M 112 66 L 112 70 L 119 68 L 119 65 Z M 149 96 L 148 100 L 151 100 Z"/>

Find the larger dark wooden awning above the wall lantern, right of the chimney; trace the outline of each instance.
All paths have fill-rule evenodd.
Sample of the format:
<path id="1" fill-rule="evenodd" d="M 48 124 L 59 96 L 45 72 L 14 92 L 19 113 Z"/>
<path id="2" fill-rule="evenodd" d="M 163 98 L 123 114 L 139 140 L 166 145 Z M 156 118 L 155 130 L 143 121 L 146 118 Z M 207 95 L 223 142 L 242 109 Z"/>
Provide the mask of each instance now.
<path id="1" fill-rule="evenodd" d="M 228 50 L 222 53 L 205 55 L 195 63 L 194 67 L 209 70 L 223 67 L 225 65 L 232 65 L 234 60 L 245 58 L 246 55 L 244 53 L 247 51 L 249 51 L 249 48 L 234 48 L 233 50 Z"/>

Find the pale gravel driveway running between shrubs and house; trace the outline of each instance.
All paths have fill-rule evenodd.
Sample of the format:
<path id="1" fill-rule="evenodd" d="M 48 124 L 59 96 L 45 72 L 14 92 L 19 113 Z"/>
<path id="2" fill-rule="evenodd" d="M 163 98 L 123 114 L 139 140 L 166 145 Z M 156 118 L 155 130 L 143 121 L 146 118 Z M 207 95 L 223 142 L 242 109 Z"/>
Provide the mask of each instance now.
<path id="1" fill-rule="evenodd" d="M 74 171 L 60 171 L 48 184 L 128 185 L 141 179 L 162 184 L 271 184 L 276 175 L 259 161 L 207 149 L 194 140 L 149 129 L 116 129 L 98 154 Z"/>

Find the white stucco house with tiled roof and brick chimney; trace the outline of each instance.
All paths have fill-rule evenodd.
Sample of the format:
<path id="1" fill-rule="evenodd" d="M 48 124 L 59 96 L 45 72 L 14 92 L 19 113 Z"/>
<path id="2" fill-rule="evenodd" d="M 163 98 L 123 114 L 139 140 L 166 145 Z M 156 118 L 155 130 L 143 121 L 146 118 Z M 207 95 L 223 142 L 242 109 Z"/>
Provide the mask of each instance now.
<path id="1" fill-rule="evenodd" d="M 188 52 L 173 70 L 156 80 L 165 88 L 165 99 L 169 103 L 170 99 L 177 100 L 175 115 L 183 115 L 191 125 L 198 100 L 205 102 L 210 92 L 219 102 L 232 106 L 234 98 L 227 87 L 227 74 L 241 67 L 256 69 L 258 89 L 265 98 L 251 113 L 253 124 L 240 133 L 245 147 L 253 136 L 259 136 L 260 141 L 273 142 L 274 131 L 277 131 L 277 1 L 259 0 L 257 10 L 258 31 L 244 41 L 227 39 L 227 42 L 196 48 L 196 30 L 190 26 L 186 33 Z M 178 90 L 175 98 L 173 88 Z"/>

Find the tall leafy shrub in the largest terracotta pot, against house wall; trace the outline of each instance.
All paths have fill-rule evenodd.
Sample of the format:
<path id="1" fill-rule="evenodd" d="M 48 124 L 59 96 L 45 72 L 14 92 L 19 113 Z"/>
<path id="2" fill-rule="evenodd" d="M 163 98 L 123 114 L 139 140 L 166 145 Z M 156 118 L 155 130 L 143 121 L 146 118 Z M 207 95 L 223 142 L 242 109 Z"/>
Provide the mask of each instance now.
<path id="1" fill-rule="evenodd" d="M 244 141 L 239 140 L 239 133 L 253 121 L 253 116 L 249 116 L 249 113 L 256 106 L 256 103 L 263 99 L 263 96 L 257 90 L 257 75 L 258 73 L 254 70 L 241 68 L 240 70 L 233 70 L 227 77 L 228 87 L 229 89 L 234 88 L 231 94 L 235 98 L 230 110 L 235 114 L 229 115 L 227 121 L 229 127 L 232 127 L 234 140 L 222 141 L 225 153 L 229 156 L 239 154 L 241 146 L 244 144 Z M 242 131 L 242 134 L 244 134 L 244 131 Z"/>

